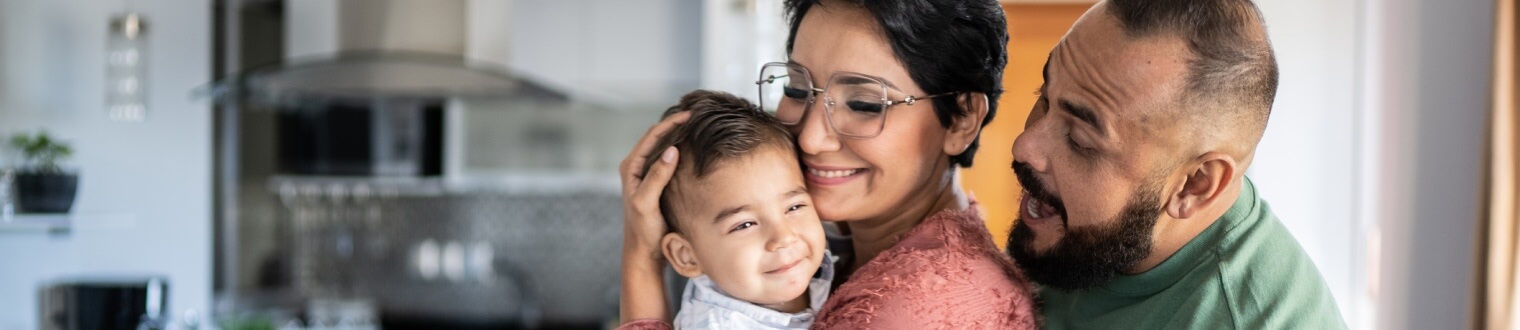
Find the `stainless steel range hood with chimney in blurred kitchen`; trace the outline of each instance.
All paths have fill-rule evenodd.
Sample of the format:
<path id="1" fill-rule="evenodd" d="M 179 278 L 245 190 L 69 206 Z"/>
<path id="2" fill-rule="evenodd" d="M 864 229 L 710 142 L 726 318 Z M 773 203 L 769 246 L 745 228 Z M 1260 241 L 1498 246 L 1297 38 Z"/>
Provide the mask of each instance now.
<path id="1" fill-rule="evenodd" d="M 465 56 L 465 0 L 327 2 L 336 17 L 315 20 L 336 20 L 336 29 L 325 32 L 336 33 L 328 40 L 336 52 L 245 70 L 207 93 L 220 102 L 283 108 L 375 99 L 568 100 L 565 93 Z"/>

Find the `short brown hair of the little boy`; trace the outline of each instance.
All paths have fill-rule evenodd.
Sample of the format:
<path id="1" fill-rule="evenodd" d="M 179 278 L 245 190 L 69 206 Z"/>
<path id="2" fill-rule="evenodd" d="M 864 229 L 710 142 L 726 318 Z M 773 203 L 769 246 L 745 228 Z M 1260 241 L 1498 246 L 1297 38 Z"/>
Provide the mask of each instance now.
<path id="1" fill-rule="evenodd" d="M 681 152 L 675 175 L 670 176 L 670 182 L 660 193 L 660 213 L 664 216 L 666 227 L 670 231 L 681 231 L 676 227 L 678 221 L 672 211 L 670 201 L 675 198 L 675 187 L 681 181 L 682 173 L 690 175 L 689 178 L 701 179 L 711 173 L 717 163 L 749 155 L 762 146 L 778 148 L 786 152 L 796 151 L 786 125 L 781 125 L 775 117 L 762 111 L 760 106 L 739 96 L 696 90 L 681 96 L 681 103 L 670 106 L 660 117 L 670 117 L 681 111 L 692 111 L 692 119 L 684 125 L 675 126 L 664 137 L 660 137 L 658 148 L 644 160 L 643 167 L 643 172 L 649 173 L 649 166 L 660 161 L 660 154 L 666 148 L 675 146 Z"/>

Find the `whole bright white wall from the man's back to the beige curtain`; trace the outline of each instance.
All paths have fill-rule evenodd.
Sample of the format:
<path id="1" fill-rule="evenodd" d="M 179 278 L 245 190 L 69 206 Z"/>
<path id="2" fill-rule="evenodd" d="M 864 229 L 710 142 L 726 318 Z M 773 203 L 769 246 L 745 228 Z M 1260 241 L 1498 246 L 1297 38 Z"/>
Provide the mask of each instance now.
<path id="1" fill-rule="evenodd" d="M 1493 2 L 1257 2 L 1281 85 L 1251 175 L 1353 328 L 1468 325 Z"/>

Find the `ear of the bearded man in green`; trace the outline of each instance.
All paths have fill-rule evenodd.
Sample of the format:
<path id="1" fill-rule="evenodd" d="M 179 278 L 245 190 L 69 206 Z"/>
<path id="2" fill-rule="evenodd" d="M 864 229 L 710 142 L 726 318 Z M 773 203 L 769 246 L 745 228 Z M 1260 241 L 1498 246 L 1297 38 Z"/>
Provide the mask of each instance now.
<path id="1" fill-rule="evenodd" d="M 1190 161 L 1187 176 L 1166 204 L 1172 219 L 1189 219 L 1224 201 L 1225 189 L 1236 179 L 1237 163 L 1224 152 L 1208 152 Z"/>

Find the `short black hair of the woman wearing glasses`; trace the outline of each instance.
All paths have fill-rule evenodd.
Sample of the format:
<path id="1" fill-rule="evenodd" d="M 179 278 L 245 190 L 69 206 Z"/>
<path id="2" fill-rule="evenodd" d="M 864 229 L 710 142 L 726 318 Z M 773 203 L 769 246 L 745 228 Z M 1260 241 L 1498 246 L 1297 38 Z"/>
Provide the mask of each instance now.
<path id="1" fill-rule="evenodd" d="M 876 17 L 897 59 L 924 93 L 983 93 L 988 103 L 982 126 L 993 122 L 997 97 L 1003 94 L 1003 65 L 1008 64 L 1008 20 L 997 0 L 786 0 L 792 24 L 786 53 L 792 53 L 796 29 L 807 11 L 836 3 L 863 8 Z M 932 100 L 935 116 L 945 128 L 967 114 L 959 97 Z M 980 137 L 971 140 L 965 152 L 952 157 L 950 163 L 970 167 L 980 141 Z"/>

